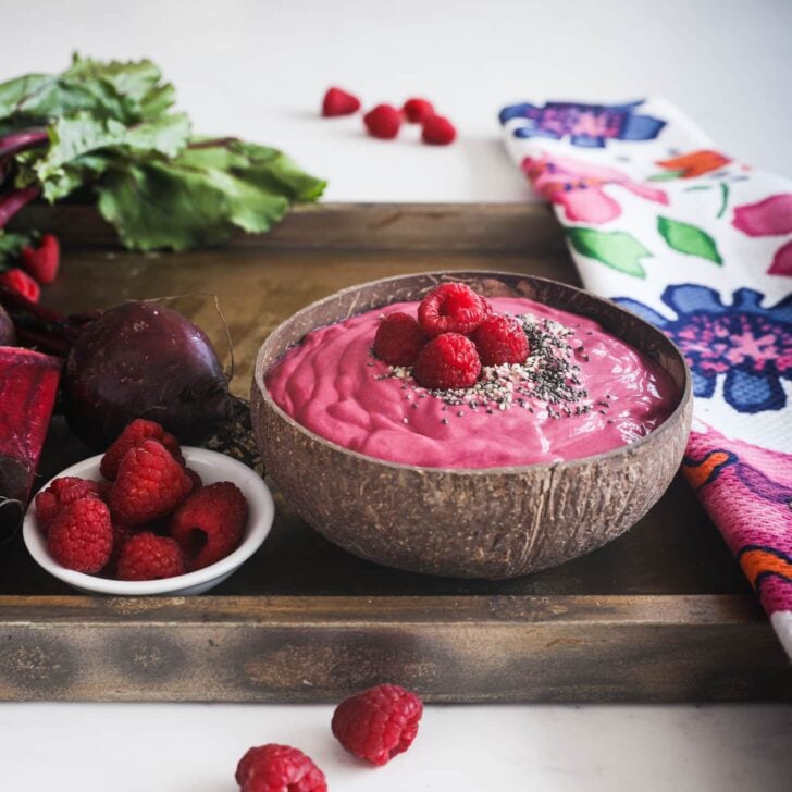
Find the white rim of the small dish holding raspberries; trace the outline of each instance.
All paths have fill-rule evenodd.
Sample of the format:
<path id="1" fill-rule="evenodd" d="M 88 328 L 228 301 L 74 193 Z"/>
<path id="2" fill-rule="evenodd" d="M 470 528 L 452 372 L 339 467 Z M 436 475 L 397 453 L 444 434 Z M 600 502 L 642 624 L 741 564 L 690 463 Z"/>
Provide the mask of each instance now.
<path id="1" fill-rule="evenodd" d="M 270 533 L 275 518 L 275 503 L 272 492 L 267 482 L 256 471 L 225 454 L 195 446 L 182 446 L 182 454 L 188 463 L 195 461 L 220 462 L 222 467 L 219 467 L 219 470 L 234 483 L 238 483 L 244 477 L 245 497 L 252 500 L 262 511 L 261 519 L 247 525 L 247 536 L 225 558 L 221 558 L 219 561 L 194 572 L 163 578 L 162 580 L 114 580 L 113 578 L 99 578 L 94 574 L 77 572 L 74 569 L 66 569 L 58 564 L 47 549 L 46 540 L 37 524 L 35 498 L 30 500 L 22 523 L 22 536 L 28 553 L 39 567 L 64 583 L 97 594 L 112 594 L 115 596 L 177 593 L 235 571 L 256 553 Z M 102 454 L 97 454 L 71 465 L 46 482 L 39 492 L 46 490 L 54 479 L 63 475 L 85 477 L 86 474 L 98 473 L 102 456 Z"/>

